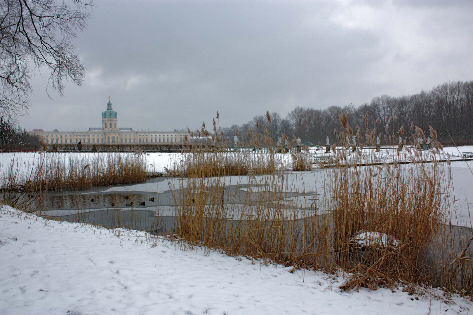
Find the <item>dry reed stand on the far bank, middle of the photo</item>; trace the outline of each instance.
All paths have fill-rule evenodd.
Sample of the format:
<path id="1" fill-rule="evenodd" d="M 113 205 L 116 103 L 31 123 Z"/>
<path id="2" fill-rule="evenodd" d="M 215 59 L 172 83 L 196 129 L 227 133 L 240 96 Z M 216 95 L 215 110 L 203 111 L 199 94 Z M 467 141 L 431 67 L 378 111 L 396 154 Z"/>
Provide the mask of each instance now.
<path id="1" fill-rule="evenodd" d="M 266 115 L 268 122 L 271 123 L 269 112 Z M 217 112 L 217 121 L 219 113 Z M 306 153 L 292 153 L 292 160 L 286 160 L 284 154 L 276 152 L 291 151 L 292 146 L 289 138 L 282 134 L 281 142 L 274 146 L 272 137 L 268 130 L 263 126 L 263 134 L 259 134 L 253 129 L 248 129 L 246 135 L 241 135 L 236 146 L 228 150 L 228 145 L 233 145 L 225 139 L 221 129 L 217 127 L 217 122 L 213 120 L 213 134 L 202 124 L 201 130 L 189 131 L 189 136 L 198 136 L 205 138 L 206 145 L 188 142 L 185 137 L 186 145 L 183 148 L 181 161 L 172 168 L 166 168 L 168 176 L 183 177 L 215 177 L 215 176 L 244 176 L 271 174 L 276 170 L 310 170 L 312 168 L 313 158 Z M 236 136 L 238 134 L 236 133 Z M 282 141 L 287 144 L 283 148 Z M 296 143 L 294 136 L 293 144 Z M 212 145 L 210 145 L 212 144 Z M 252 148 L 252 149 L 251 149 Z M 307 148 L 307 147 L 306 147 Z M 251 150 L 251 152 L 247 152 Z M 296 151 L 296 150 L 294 150 Z M 308 150 L 307 150 L 308 152 Z"/>

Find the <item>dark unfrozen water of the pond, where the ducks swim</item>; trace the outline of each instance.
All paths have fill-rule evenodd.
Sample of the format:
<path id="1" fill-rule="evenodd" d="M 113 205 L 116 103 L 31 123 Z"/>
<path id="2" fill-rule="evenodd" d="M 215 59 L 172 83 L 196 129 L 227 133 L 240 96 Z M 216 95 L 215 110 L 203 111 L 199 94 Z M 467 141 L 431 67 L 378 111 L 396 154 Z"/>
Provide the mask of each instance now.
<path id="1" fill-rule="evenodd" d="M 165 178 L 149 179 L 146 183 L 150 184 L 163 180 Z M 265 192 L 248 192 L 241 189 L 261 186 L 265 185 L 229 185 L 225 188 L 225 194 L 222 194 L 222 204 L 244 203 L 245 198 L 250 198 L 256 202 L 262 200 L 262 194 Z M 157 193 L 153 191 L 133 191 L 133 185 L 117 187 L 121 187 L 119 188 L 120 191 L 106 191 L 111 187 L 96 187 L 87 191 L 47 192 L 41 196 L 35 196 L 31 200 L 30 209 L 35 210 L 35 213 L 42 216 L 61 221 L 87 222 L 103 225 L 107 228 L 124 227 L 156 233 L 174 231 L 177 217 L 174 214 L 169 215 L 169 211 L 161 212 L 164 215 L 160 215 L 160 208 L 174 208 L 176 206 L 175 196 L 188 191 L 176 189 Z M 272 196 L 272 200 L 266 196 L 264 203 L 305 195 L 309 195 L 307 196 L 309 199 L 318 194 L 316 192 L 305 194 L 284 192 Z M 210 203 L 210 200 L 208 203 Z M 292 207 L 287 206 L 287 208 Z M 315 210 L 315 208 L 306 210 Z"/>

